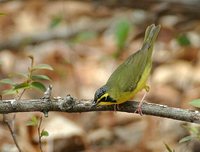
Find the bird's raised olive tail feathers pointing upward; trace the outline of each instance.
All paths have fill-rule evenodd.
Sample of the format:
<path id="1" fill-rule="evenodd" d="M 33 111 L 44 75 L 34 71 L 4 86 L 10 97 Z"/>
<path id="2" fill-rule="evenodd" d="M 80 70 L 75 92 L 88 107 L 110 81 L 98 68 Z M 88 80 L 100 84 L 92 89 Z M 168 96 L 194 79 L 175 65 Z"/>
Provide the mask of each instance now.
<path id="1" fill-rule="evenodd" d="M 141 50 L 144 51 L 148 50 L 149 51 L 148 54 L 150 57 L 152 55 L 154 42 L 158 36 L 160 28 L 161 28 L 160 25 L 155 26 L 154 24 L 152 24 L 148 26 L 145 31 L 144 42 Z"/>

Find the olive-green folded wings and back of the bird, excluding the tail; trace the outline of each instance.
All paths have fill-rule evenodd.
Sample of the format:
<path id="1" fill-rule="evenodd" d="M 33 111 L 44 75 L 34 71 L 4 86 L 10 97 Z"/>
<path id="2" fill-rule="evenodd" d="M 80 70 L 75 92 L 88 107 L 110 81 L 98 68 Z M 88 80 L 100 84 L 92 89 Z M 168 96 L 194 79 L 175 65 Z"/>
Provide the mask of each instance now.
<path id="1" fill-rule="evenodd" d="M 147 48 L 148 49 L 148 48 Z M 147 64 L 147 53 L 138 51 L 131 55 L 110 76 L 107 84 L 118 87 L 120 91 L 132 92 L 142 77 Z"/>

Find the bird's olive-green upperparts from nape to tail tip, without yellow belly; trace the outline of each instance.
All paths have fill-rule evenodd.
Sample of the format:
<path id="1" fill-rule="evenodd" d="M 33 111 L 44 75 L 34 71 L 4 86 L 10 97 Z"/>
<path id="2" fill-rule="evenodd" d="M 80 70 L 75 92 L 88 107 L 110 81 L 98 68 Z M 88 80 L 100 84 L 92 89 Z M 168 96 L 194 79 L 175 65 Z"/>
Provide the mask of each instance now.
<path id="1" fill-rule="evenodd" d="M 107 86 L 113 92 L 132 92 L 147 67 L 152 64 L 153 44 L 157 38 L 160 26 L 151 25 L 145 32 L 142 48 L 129 56 L 110 76 Z M 148 66 L 151 67 L 151 66 Z M 116 90 L 117 89 L 117 90 Z"/>

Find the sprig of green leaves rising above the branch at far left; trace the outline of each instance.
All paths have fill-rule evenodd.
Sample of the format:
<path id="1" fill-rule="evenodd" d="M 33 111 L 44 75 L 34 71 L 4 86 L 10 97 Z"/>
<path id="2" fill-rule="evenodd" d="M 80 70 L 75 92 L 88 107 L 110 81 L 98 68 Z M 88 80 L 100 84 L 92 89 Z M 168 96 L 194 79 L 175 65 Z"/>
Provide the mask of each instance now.
<path id="1" fill-rule="evenodd" d="M 26 90 L 26 89 L 37 89 L 40 91 L 45 91 L 46 87 L 43 83 L 41 83 L 42 80 L 48 80 L 51 79 L 46 75 L 39 75 L 35 74 L 38 70 L 53 70 L 53 68 L 48 64 L 38 64 L 34 65 L 34 58 L 32 56 L 29 56 L 31 59 L 31 65 L 28 67 L 28 72 L 26 74 L 24 73 L 16 73 L 16 75 L 21 76 L 23 78 L 22 82 L 15 83 L 12 79 L 6 78 L 0 80 L 0 85 L 9 85 L 10 88 L 7 90 L 3 90 L 0 94 L 2 95 L 11 95 L 11 94 L 18 94 L 19 91 Z"/>

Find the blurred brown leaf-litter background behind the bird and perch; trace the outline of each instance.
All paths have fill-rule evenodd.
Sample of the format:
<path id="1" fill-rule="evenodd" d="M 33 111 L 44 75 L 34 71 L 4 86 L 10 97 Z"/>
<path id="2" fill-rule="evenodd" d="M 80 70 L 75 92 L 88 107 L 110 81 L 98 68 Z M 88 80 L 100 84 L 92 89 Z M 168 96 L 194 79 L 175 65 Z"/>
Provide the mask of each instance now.
<path id="1" fill-rule="evenodd" d="M 199 0 L 0 0 L 0 79 L 26 73 L 29 55 L 52 81 L 53 96 L 92 99 L 114 69 L 140 49 L 146 27 L 161 24 L 154 47 L 148 102 L 188 108 L 200 98 Z M 16 79 L 20 81 L 20 79 Z M 1 91 L 6 89 L 0 86 Z M 144 91 L 134 100 L 140 100 Z M 29 90 L 22 98 L 40 98 Z M 3 96 L 10 99 L 13 96 Z M 38 152 L 37 128 L 27 126 L 41 113 L 18 113 L 17 140 L 23 151 Z M 0 151 L 15 144 L 0 116 Z M 47 152 L 199 152 L 186 123 L 121 112 L 49 113 L 42 128 Z M 191 124 L 189 124 L 191 125 Z"/>

